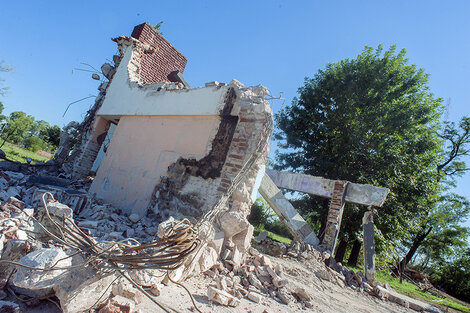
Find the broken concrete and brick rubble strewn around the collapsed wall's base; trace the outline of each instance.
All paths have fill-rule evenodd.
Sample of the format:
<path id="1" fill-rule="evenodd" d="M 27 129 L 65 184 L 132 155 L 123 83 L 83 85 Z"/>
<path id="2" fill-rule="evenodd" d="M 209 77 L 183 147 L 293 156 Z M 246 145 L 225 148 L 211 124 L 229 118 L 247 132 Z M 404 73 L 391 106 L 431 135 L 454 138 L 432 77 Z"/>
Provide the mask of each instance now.
<path id="1" fill-rule="evenodd" d="M 67 255 L 73 254 L 70 249 L 55 246 L 52 241 L 44 245 L 42 241 L 35 239 L 35 236 L 41 238 L 42 234 L 34 232 L 36 227 L 32 216 L 39 217 L 43 208 L 41 204 L 32 207 L 32 203 L 39 203 L 35 199 L 37 189 L 41 187 L 47 190 L 47 186 L 31 186 L 25 179 L 26 175 L 15 172 L 3 172 L 2 177 L 8 179 L 9 186 L 18 187 L 14 190 L 15 193 L 19 193 L 17 194 L 19 198 L 12 199 L 10 194 L 1 198 L 0 234 L 4 238 L 1 259 L 38 268 L 47 268 L 57 261 L 61 267 L 80 264 L 80 260 L 76 258 L 64 259 Z M 50 202 L 50 204 L 50 207 L 54 208 L 52 212 L 58 209 L 61 209 L 62 215 L 70 212 L 68 206 L 59 202 Z M 89 205 L 93 210 L 74 214 L 73 219 L 83 231 L 89 232 L 97 241 L 121 240 L 127 238 L 128 233 L 140 241 L 148 241 L 159 233 L 159 228 L 161 231 L 168 227 L 168 224 L 174 223 L 174 220 L 169 220 L 166 224 L 154 226 L 152 219 L 147 216 L 135 221 L 130 216 L 120 214 L 119 209 L 99 201 L 90 200 Z M 98 223 L 93 223 L 94 221 Z M 151 231 L 146 231 L 147 229 Z M 113 233 L 117 234 L 112 235 Z M 204 252 L 198 260 L 199 271 L 210 277 L 213 282 L 207 286 L 208 300 L 218 305 L 236 307 L 242 299 L 263 303 L 264 299 L 273 298 L 286 305 L 299 302 L 307 308 L 312 306 L 314 299 L 305 290 L 295 287 L 295 284 L 292 285 L 292 282 L 285 279 L 283 274 L 285 269 L 274 265 L 275 263 L 266 255 L 269 254 L 274 258 L 308 261 L 319 280 L 329 281 L 342 288 L 350 288 L 359 293 L 393 301 L 416 311 L 437 312 L 435 308 L 426 304 L 403 298 L 386 285 L 367 283 L 361 272 L 348 270 L 340 263 L 336 263 L 329 253 L 321 253 L 311 245 L 295 241 L 291 245 L 286 245 L 272 241 L 266 234 L 260 234 L 254 238 L 254 246 L 251 246 L 250 242 L 244 246 L 247 251 L 242 256 L 237 246 L 231 243 L 228 246 L 224 245 L 226 239 L 224 232 L 213 235 L 211 244 L 202 249 Z M 13 266 L 6 264 L 0 266 L 3 268 L 1 271 L 3 288 L 7 287 L 7 290 L 33 298 L 56 297 L 63 312 L 81 312 L 94 305 L 96 307 L 96 302 L 99 305 L 96 307 L 99 312 L 134 312 L 139 301 L 145 297 L 129 282 L 115 275 L 99 275 L 91 268 L 41 272 L 21 267 L 15 270 Z M 130 276 L 140 284 L 149 286 L 150 293 L 158 298 L 161 290 L 166 288 L 163 284 L 165 272 L 135 271 L 131 272 Z M 192 275 L 197 275 L 197 272 Z M 166 283 L 171 284 L 168 281 Z M 110 285 L 112 286 L 109 287 Z M 98 301 L 102 295 L 103 299 Z"/>

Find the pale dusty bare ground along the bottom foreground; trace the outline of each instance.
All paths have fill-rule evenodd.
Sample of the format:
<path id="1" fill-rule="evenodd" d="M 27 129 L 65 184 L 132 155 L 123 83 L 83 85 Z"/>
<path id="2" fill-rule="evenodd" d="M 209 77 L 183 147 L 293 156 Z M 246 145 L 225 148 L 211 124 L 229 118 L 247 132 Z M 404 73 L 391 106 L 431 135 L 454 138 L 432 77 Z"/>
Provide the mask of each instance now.
<path id="1" fill-rule="evenodd" d="M 294 289 L 297 286 L 305 288 L 312 298 L 310 301 L 312 305 L 310 307 L 306 307 L 305 304 L 294 301 L 288 305 L 284 305 L 270 297 L 265 297 L 261 303 L 254 303 L 244 298 L 241 300 L 239 306 L 229 308 L 208 302 L 206 290 L 207 286 L 212 283 L 212 280 L 205 275 L 190 278 L 184 282 L 184 286 L 193 294 L 196 304 L 202 312 L 416 312 L 411 309 L 405 309 L 397 304 L 381 301 L 376 297 L 362 294 L 351 288 L 341 288 L 329 281 L 321 280 L 304 264 L 298 261 L 274 257 L 270 258 L 273 263 L 280 263 L 284 267 L 284 277 L 289 280 L 289 288 Z M 194 309 L 191 309 L 193 305 L 188 293 L 177 285 L 164 288 L 161 295 L 155 299 L 161 304 L 179 312 L 195 312 Z M 148 299 L 145 299 L 136 308 L 140 309 L 141 312 L 162 311 Z"/>

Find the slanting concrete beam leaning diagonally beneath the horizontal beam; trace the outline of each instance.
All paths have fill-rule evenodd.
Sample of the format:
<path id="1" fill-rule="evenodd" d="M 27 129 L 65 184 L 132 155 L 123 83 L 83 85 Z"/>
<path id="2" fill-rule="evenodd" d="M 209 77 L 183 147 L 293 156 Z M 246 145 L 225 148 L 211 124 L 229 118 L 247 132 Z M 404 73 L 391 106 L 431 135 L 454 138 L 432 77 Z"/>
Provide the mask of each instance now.
<path id="1" fill-rule="evenodd" d="M 318 245 L 319 240 L 310 225 L 307 224 L 266 174 L 261 180 L 259 193 L 266 202 L 268 202 L 274 212 L 276 212 L 279 219 L 287 226 L 295 239 L 311 244 L 312 246 Z"/>

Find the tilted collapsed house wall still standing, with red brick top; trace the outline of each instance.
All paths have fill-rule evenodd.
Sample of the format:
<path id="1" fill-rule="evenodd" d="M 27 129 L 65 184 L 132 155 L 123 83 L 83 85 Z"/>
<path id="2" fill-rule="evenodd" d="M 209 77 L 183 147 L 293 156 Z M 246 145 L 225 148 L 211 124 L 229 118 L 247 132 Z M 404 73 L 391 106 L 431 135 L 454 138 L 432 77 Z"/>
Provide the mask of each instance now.
<path id="1" fill-rule="evenodd" d="M 188 88 L 173 75 L 186 59 L 149 24 L 113 40 L 120 54 L 81 125 L 69 161 L 74 175 L 97 168 L 89 192 L 133 220 L 197 221 L 204 240 L 186 274 L 219 256 L 238 266 L 250 246 L 246 216 L 272 132 L 268 89 L 236 80 Z"/>

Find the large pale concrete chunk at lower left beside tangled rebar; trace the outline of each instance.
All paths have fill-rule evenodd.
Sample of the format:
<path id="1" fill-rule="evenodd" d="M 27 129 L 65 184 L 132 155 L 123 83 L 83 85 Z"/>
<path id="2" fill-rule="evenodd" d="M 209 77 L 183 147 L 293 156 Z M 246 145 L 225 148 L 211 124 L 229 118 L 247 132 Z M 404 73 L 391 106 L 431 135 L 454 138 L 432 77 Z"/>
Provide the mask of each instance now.
<path id="1" fill-rule="evenodd" d="M 25 255 L 18 263 L 34 268 L 61 268 L 72 265 L 71 258 L 59 248 L 41 248 Z M 53 288 L 64 278 L 66 270 L 37 271 L 18 267 L 11 278 L 12 288 L 29 297 L 44 297 L 54 293 Z"/>

